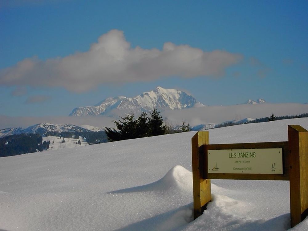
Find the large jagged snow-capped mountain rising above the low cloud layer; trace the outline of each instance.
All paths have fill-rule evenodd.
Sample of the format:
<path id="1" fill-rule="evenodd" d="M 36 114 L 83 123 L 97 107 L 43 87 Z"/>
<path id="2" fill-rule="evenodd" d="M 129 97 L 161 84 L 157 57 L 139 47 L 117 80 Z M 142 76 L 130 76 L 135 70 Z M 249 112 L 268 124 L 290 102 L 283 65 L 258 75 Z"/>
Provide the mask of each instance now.
<path id="1" fill-rule="evenodd" d="M 132 98 L 119 96 L 115 98 L 107 98 L 94 106 L 77 107 L 70 116 L 84 116 L 84 115 L 103 115 L 113 109 L 121 111 L 152 111 L 154 108 L 165 111 L 174 109 L 183 109 L 201 106 L 197 100 L 185 93 L 176 89 L 165 89 L 156 87 L 153 91 L 144 92 Z M 204 106 L 202 104 L 202 106 Z"/>

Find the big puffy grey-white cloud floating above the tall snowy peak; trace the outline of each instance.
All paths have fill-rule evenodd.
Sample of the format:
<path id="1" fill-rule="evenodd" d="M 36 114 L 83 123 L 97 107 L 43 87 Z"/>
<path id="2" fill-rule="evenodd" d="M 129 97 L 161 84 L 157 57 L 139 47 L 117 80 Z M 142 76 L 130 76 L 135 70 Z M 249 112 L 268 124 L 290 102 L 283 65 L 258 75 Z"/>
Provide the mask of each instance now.
<path id="1" fill-rule="evenodd" d="M 153 81 L 168 76 L 220 77 L 242 55 L 227 51 L 202 51 L 188 45 L 164 43 L 162 50 L 132 48 L 123 31 L 111 30 L 99 37 L 89 51 L 64 58 L 27 58 L 0 70 L 0 85 L 64 87 L 88 91 L 103 83 Z"/>

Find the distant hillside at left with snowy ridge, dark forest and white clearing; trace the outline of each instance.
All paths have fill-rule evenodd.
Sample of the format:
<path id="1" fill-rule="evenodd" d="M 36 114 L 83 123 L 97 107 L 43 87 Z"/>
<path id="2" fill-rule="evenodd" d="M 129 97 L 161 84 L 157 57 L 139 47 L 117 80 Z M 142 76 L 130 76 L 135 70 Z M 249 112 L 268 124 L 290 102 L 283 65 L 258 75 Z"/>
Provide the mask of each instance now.
<path id="1" fill-rule="evenodd" d="M 0 157 L 30 152 L 80 147 L 108 141 L 105 131 L 88 125 L 35 124 L 0 130 Z"/>

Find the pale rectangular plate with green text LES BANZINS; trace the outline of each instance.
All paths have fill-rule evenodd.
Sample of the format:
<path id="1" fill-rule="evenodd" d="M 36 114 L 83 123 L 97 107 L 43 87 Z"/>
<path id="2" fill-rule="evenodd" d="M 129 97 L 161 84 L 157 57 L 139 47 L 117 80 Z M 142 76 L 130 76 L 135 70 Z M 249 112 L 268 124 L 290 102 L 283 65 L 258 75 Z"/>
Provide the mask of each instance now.
<path id="1" fill-rule="evenodd" d="M 208 173 L 283 174 L 282 148 L 208 150 Z"/>

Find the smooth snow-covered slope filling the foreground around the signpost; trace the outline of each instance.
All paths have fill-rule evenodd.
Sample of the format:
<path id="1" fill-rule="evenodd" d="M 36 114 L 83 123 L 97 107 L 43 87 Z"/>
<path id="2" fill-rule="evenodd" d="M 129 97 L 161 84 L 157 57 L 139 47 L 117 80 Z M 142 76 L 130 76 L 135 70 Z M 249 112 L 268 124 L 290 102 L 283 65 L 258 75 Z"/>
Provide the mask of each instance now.
<path id="1" fill-rule="evenodd" d="M 210 143 L 284 141 L 308 118 L 209 130 Z M 192 219 L 195 132 L 0 158 L 0 230 L 287 230 L 287 181 L 212 180 Z M 294 230 L 308 230 L 308 219 Z"/>

